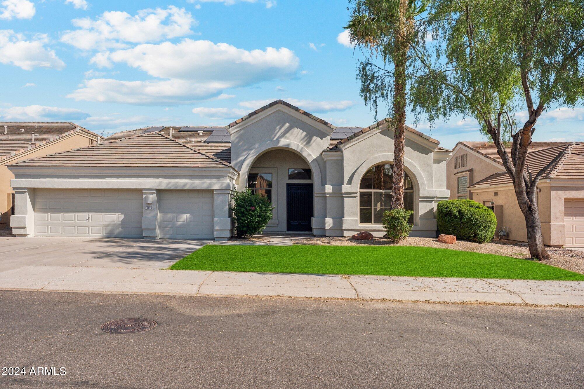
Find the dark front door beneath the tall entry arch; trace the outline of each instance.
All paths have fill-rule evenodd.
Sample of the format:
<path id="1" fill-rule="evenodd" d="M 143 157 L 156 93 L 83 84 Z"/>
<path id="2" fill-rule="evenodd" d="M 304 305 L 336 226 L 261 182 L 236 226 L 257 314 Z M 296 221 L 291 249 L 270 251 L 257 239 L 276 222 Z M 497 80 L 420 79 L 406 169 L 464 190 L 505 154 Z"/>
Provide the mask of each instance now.
<path id="1" fill-rule="evenodd" d="M 287 231 L 312 231 L 312 184 L 287 184 Z"/>

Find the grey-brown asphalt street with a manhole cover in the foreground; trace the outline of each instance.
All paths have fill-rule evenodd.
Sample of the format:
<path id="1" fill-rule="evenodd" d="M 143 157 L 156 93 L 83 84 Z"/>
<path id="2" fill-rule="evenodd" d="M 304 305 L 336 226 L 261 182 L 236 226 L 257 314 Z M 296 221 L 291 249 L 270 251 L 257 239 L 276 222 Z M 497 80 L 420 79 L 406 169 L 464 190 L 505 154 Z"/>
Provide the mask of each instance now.
<path id="1" fill-rule="evenodd" d="M 158 325 L 100 329 L 134 317 Z M 0 291 L 0 366 L 66 370 L 0 387 L 581 388 L 584 309 Z"/>

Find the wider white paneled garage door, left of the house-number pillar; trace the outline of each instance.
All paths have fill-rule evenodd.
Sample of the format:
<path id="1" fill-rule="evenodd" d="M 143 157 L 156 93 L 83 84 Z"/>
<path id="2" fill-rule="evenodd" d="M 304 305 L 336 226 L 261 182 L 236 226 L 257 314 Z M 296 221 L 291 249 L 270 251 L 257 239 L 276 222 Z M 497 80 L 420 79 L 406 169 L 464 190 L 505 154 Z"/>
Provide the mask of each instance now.
<path id="1" fill-rule="evenodd" d="M 34 192 L 34 232 L 39 237 L 142 237 L 141 190 Z"/>

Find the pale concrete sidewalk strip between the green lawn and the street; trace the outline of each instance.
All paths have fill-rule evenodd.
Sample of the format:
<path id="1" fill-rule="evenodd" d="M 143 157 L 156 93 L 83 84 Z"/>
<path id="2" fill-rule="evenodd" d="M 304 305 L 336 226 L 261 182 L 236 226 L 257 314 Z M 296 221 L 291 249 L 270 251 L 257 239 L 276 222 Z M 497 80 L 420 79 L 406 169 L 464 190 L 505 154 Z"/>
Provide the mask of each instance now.
<path id="1" fill-rule="evenodd" d="M 0 272 L 0 289 L 584 307 L 584 282 L 576 281 L 204 272 L 79 265 L 32 265 Z"/>

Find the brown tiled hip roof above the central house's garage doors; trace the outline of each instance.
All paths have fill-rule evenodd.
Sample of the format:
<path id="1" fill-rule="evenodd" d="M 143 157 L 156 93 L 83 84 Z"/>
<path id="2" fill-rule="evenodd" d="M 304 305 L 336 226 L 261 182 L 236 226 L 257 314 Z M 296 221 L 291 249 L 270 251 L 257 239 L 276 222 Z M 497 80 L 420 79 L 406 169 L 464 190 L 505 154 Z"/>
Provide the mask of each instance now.
<path id="1" fill-rule="evenodd" d="M 105 141 L 90 147 L 27 159 L 16 166 L 147 166 L 214 168 L 227 162 L 169 138 L 148 133 L 120 140 Z"/>

